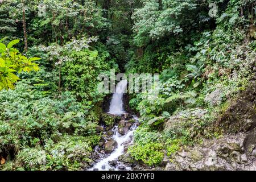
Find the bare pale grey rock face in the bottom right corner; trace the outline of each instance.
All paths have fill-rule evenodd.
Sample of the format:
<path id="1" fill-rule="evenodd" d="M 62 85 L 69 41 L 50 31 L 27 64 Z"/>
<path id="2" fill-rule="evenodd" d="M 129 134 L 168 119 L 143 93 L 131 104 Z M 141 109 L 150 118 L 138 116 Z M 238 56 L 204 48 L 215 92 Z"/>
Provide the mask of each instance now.
<path id="1" fill-rule="evenodd" d="M 246 138 L 240 133 L 204 140 L 203 144 L 186 148 L 182 153 L 187 155 L 172 156 L 166 170 L 256 170 L 256 156 L 246 151 Z"/>

